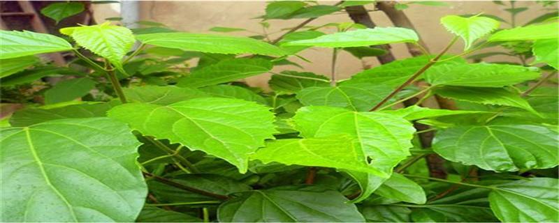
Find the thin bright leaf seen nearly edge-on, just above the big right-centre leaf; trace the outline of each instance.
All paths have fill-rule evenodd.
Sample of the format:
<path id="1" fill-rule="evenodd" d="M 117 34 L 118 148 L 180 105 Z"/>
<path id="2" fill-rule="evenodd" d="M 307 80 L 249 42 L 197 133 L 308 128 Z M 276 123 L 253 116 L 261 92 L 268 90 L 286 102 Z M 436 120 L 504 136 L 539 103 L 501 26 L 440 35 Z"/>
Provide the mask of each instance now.
<path id="1" fill-rule="evenodd" d="M 427 107 L 419 107 L 417 105 L 412 105 L 404 109 L 397 110 L 384 110 L 379 111 L 382 113 L 392 114 L 395 116 L 400 116 L 409 121 L 414 121 L 423 118 L 435 118 L 440 116 L 453 116 L 460 114 L 479 114 L 483 112 L 479 111 L 460 111 L 460 110 L 447 110 L 447 109 L 430 109 Z"/>

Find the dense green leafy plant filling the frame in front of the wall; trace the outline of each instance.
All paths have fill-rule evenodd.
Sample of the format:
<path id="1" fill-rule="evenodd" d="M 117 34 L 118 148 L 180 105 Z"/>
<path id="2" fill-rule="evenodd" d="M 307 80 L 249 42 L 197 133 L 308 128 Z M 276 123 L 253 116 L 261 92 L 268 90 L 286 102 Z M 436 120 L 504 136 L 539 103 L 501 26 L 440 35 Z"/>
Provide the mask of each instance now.
<path id="1" fill-rule="evenodd" d="M 435 55 L 341 80 L 285 69 L 310 47 L 333 48 L 333 66 L 340 49 L 361 59 L 386 53 L 370 45 L 421 47 L 401 27 L 300 26 L 308 30 L 277 40 L 266 32 L 266 20 L 368 3 L 275 1 L 252 38 L 150 22 L 61 29 L 72 43 L 1 31 L 2 100 L 27 104 L 2 123 L 1 220 L 558 222 L 558 97 L 544 85 L 555 82 L 559 23 L 495 31 L 491 17 L 449 15 L 441 22 L 454 38 Z M 43 13 L 59 21 L 80 11 L 75 4 Z M 337 32 L 319 31 L 326 26 Z M 460 39 L 464 52 L 447 54 Z M 518 41 L 532 66 L 461 59 L 479 44 Z M 75 59 L 57 68 L 34 56 L 51 52 Z M 238 82 L 263 73 L 273 74 L 271 91 Z M 41 81 L 56 75 L 68 78 Z M 457 108 L 424 106 L 433 97 Z M 426 133 L 433 144 L 421 141 Z M 433 154 L 448 178 L 429 176 Z"/>

